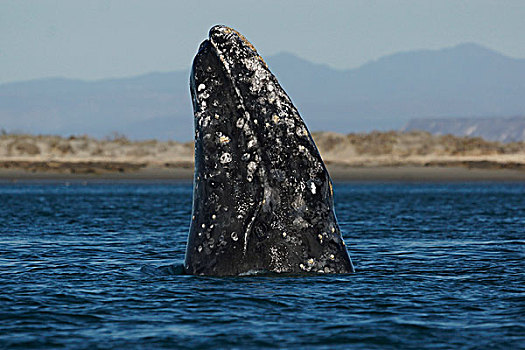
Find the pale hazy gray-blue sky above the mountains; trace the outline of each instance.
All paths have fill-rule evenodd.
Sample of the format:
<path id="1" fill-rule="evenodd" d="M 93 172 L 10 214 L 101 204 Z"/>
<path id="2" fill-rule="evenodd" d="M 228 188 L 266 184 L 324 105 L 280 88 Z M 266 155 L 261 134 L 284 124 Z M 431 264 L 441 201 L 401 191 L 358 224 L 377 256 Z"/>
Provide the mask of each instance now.
<path id="1" fill-rule="evenodd" d="M 525 57 L 523 0 L 0 0 L 0 83 L 187 69 L 218 23 L 263 57 L 289 51 L 340 69 L 464 42 Z"/>

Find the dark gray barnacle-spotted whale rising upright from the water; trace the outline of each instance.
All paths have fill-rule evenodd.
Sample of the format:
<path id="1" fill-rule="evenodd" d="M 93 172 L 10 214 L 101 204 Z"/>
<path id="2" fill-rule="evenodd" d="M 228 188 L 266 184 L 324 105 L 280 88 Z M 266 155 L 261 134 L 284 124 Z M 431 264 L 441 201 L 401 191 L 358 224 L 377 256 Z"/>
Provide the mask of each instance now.
<path id="1" fill-rule="evenodd" d="M 255 48 L 235 30 L 213 27 L 190 87 L 195 178 L 186 273 L 354 272 L 330 176 Z"/>

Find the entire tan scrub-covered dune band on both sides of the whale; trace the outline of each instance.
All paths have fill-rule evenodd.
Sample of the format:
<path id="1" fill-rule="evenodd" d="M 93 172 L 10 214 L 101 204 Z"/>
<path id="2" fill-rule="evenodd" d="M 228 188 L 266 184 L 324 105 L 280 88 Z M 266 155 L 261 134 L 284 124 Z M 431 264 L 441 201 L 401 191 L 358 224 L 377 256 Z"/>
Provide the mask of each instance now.
<path id="1" fill-rule="evenodd" d="M 348 135 L 318 132 L 312 136 L 327 164 L 525 169 L 525 142 L 503 144 L 422 131 Z M 130 141 L 118 134 L 106 139 L 0 135 L 0 169 L 102 173 L 135 171 L 147 166 L 188 168 L 192 163 L 192 142 Z"/>

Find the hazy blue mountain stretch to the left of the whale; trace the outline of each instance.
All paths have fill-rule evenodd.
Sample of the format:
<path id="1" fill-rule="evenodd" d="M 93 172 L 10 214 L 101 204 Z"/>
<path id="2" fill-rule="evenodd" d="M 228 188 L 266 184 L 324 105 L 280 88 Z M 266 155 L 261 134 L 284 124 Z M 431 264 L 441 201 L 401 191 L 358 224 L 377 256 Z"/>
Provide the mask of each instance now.
<path id="1" fill-rule="evenodd" d="M 44 134 L 119 132 L 191 140 L 188 73 L 82 81 L 42 79 L 0 85 L 0 128 Z"/>

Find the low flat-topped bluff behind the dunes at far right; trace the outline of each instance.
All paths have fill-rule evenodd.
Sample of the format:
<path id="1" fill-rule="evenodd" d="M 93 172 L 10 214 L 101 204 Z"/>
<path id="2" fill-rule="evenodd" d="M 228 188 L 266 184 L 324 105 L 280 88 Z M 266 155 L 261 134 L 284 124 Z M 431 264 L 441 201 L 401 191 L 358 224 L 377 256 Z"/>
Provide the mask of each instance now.
<path id="1" fill-rule="evenodd" d="M 525 116 L 511 118 L 413 119 L 403 131 L 424 130 L 437 135 L 478 136 L 485 140 L 525 140 Z"/>

